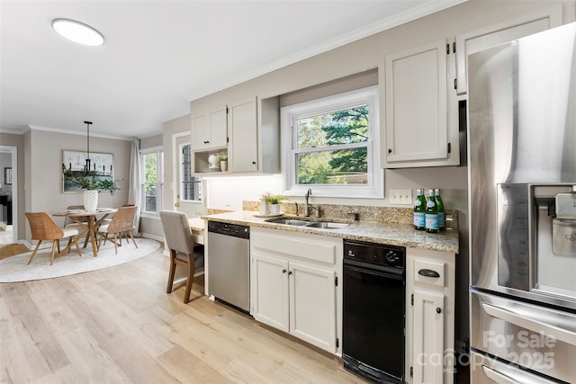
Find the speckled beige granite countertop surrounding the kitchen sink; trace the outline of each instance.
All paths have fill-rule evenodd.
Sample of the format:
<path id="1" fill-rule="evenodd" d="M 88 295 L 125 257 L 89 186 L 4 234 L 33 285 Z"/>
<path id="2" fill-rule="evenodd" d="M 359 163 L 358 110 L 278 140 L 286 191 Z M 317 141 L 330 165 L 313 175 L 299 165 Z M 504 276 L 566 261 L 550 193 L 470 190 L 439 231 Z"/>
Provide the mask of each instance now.
<path id="1" fill-rule="evenodd" d="M 310 228 L 269 223 L 266 222 L 266 219 L 271 218 L 258 218 L 255 216 L 257 214 L 257 211 L 241 210 L 202 216 L 202 219 L 208 221 L 220 221 L 230 224 L 239 224 L 250 227 L 284 229 L 288 231 L 310 233 L 314 235 L 341 237 L 348 240 L 367 241 L 372 243 L 387 244 L 391 246 L 410 246 L 412 248 L 448 252 L 451 254 L 458 254 L 459 252 L 458 231 L 450 228 L 439 234 L 429 234 L 424 231 L 417 231 L 408 224 L 380 224 L 371 221 L 305 218 L 307 220 L 310 219 L 313 221 L 351 223 L 350 226 L 345 228 Z M 284 218 L 303 219 L 302 216 L 296 217 L 293 215 L 284 215 Z"/>

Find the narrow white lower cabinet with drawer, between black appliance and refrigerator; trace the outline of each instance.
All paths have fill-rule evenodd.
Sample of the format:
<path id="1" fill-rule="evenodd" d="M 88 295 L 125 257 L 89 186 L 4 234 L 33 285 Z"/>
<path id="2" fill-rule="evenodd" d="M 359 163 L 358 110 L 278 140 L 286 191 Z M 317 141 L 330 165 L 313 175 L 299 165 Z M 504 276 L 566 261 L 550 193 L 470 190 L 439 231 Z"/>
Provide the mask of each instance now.
<path id="1" fill-rule="evenodd" d="M 406 382 L 454 382 L 455 255 L 406 248 Z"/>

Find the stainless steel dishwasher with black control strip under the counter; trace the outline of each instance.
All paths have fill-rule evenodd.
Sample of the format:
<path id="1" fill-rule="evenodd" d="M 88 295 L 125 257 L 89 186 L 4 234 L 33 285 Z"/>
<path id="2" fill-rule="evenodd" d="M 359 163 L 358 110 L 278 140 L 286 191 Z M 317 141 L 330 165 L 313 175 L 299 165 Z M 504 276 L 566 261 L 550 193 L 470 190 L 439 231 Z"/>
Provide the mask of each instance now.
<path id="1" fill-rule="evenodd" d="M 238 308 L 250 309 L 250 228 L 208 222 L 208 293 Z"/>

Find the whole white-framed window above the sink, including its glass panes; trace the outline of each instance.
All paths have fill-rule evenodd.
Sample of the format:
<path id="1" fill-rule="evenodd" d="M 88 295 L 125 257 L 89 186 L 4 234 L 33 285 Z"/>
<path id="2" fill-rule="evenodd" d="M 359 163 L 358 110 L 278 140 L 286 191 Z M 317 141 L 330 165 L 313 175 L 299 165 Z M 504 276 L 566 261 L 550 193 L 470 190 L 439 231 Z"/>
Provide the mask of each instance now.
<path id="1" fill-rule="evenodd" d="M 383 197 L 377 87 L 284 107 L 286 194 Z"/>

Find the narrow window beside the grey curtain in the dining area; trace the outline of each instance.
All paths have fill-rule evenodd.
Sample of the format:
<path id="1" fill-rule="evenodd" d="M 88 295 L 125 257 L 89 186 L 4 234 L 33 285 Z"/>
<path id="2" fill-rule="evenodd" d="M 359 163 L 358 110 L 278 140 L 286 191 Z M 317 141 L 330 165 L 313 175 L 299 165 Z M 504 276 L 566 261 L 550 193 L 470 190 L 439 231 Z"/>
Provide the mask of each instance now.
<path id="1" fill-rule="evenodd" d="M 142 165 L 142 203 L 143 213 L 158 214 L 162 210 L 162 186 L 164 175 L 164 152 L 146 150 L 140 152 Z"/>

